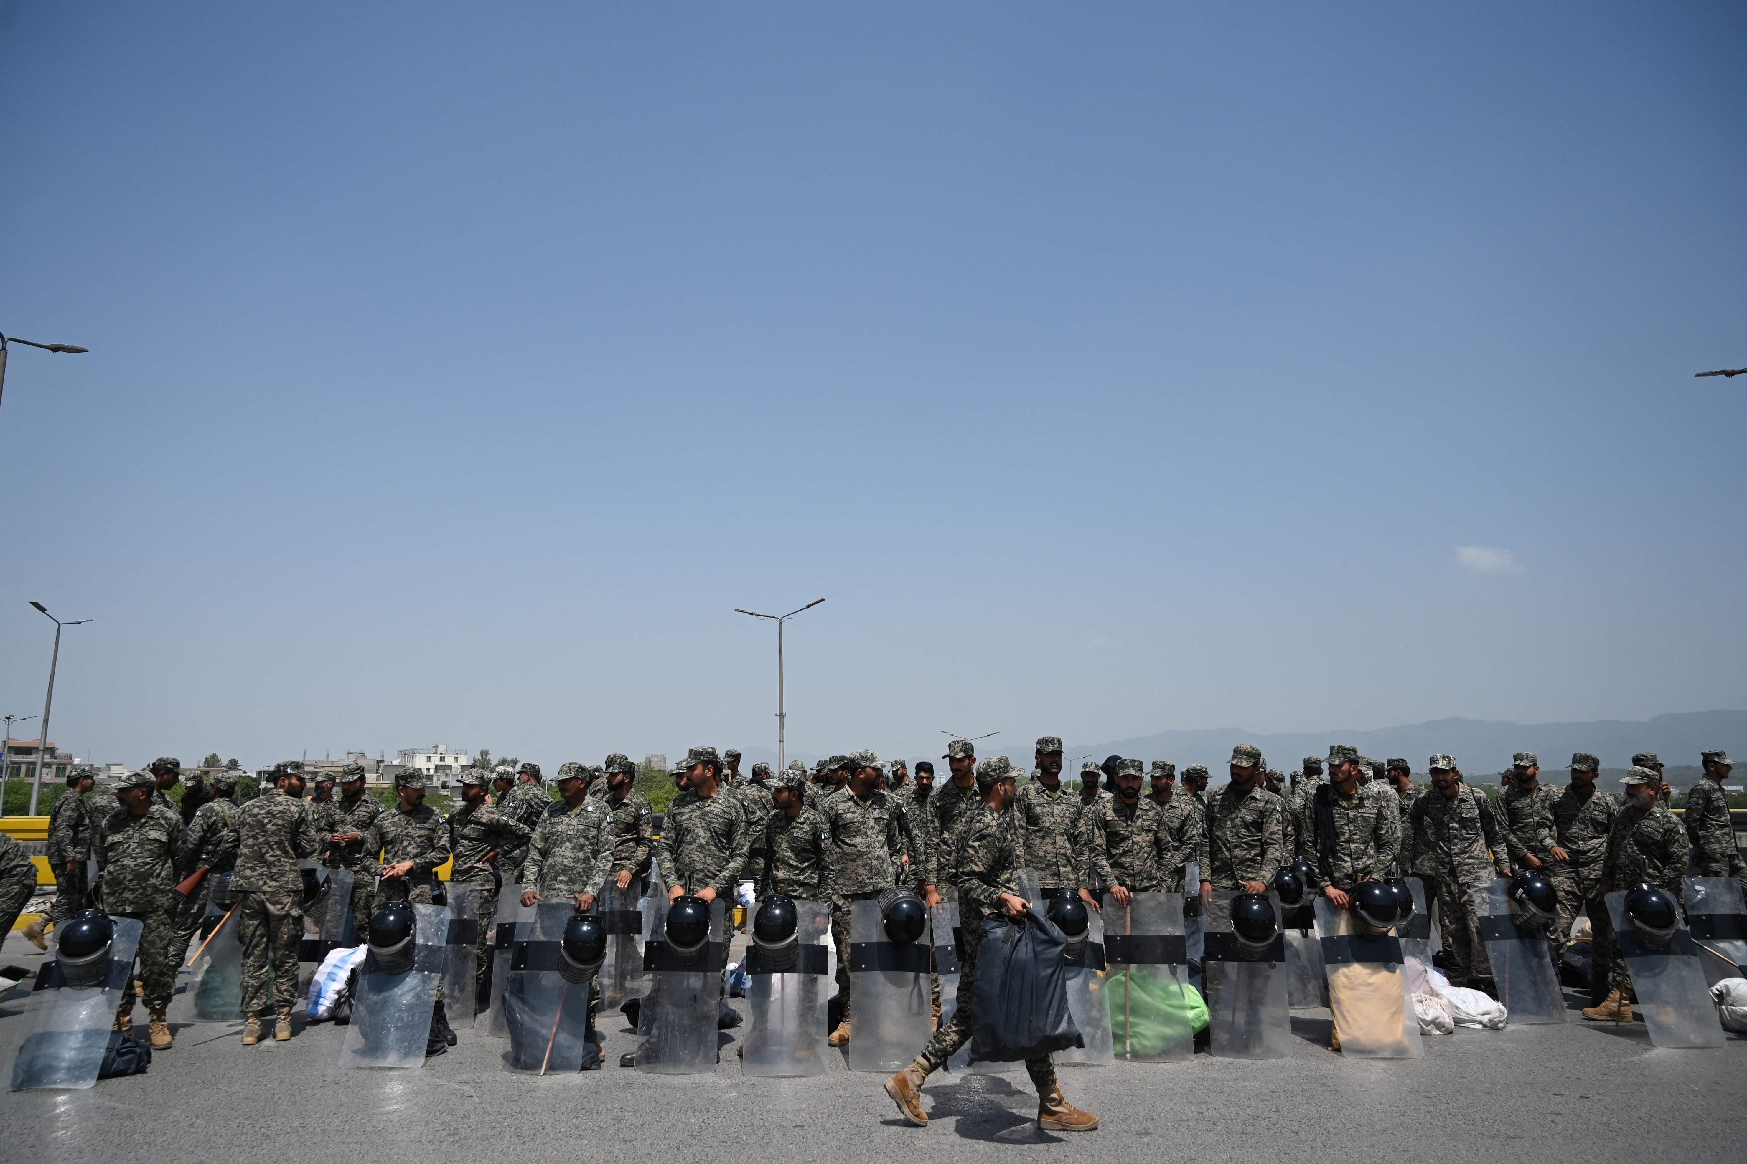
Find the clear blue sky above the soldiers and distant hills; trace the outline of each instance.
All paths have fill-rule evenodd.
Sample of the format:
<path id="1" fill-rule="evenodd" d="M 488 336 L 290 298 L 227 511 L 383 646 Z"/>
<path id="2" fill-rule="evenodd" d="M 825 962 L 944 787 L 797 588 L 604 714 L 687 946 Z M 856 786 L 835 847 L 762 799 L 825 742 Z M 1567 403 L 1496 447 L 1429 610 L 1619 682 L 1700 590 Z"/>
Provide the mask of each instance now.
<path id="1" fill-rule="evenodd" d="M 1744 707 L 1740 5 L 0 7 L 0 712 Z"/>

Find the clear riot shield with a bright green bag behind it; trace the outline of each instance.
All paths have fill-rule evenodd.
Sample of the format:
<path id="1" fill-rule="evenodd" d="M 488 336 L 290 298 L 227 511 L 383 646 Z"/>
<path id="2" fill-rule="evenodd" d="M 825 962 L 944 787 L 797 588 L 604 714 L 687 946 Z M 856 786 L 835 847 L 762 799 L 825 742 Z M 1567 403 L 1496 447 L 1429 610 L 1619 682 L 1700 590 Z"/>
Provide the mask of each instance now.
<path id="1" fill-rule="evenodd" d="M 1137 1063 L 1172 1063 L 1195 1054 L 1195 1021 L 1181 894 L 1104 895 L 1104 958 L 1109 976 L 1113 1054 Z"/>

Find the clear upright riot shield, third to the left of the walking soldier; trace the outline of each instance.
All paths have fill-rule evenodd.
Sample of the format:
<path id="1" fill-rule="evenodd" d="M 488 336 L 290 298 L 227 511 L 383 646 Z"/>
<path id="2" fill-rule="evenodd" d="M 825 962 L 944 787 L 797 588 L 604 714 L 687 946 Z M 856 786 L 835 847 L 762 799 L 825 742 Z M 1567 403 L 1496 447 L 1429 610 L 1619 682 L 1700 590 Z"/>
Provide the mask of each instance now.
<path id="1" fill-rule="evenodd" d="M 638 1009 L 638 1070 L 699 1075 L 716 1070 L 716 1017 L 727 958 L 723 902 L 709 902 L 709 939 L 695 962 L 667 942 L 667 913 L 657 911 L 643 944 L 650 993 Z"/>

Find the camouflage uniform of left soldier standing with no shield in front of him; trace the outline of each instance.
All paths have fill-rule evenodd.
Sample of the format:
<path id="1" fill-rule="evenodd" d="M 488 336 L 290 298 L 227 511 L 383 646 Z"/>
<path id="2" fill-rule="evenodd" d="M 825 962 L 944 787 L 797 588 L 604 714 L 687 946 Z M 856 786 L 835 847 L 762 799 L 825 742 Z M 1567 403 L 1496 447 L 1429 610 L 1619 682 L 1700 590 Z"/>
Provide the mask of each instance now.
<path id="1" fill-rule="evenodd" d="M 218 801 L 201 805 L 201 813 Z M 280 1014 L 297 1005 L 297 944 L 304 935 L 304 878 L 297 862 L 321 852 L 309 808 L 267 789 L 236 815 L 238 939 L 243 942 L 243 1014 L 267 1009 L 267 972 Z"/>

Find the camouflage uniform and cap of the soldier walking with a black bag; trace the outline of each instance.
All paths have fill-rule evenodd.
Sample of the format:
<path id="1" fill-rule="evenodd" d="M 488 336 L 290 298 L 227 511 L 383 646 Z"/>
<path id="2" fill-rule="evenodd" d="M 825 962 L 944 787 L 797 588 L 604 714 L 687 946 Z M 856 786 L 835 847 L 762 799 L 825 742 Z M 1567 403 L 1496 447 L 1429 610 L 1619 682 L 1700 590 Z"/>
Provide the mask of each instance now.
<path id="1" fill-rule="evenodd" d="M 991 756 L 977 766 L 980 789 L 1012 775 L 1012 764 L 1001 756 Z M 1141 798 L 1148 803 L 1146 798 Z M 1157 811 L 1157 805 L 1150 805 Z M 975 1010 L 977 953 L 982 948 L 982 920 L 1005 913 L 1001 894 L 1019 894 L 1019 827 L 1012 810 L 994 811 L 978 799 L 966 813 L 957 848 L 959 927 L 964 949 L 959 955 L 959 1007 L 952 1021 L 940 1026 L 928 1040 L 922 1054 L 910 1065 L 924 1077 L 945 1066 L 947 1059 L 970 1042 Z M 1050 1054 L 1025 1059 L 1025 1073 L 1039 1096 L 1055 1094 L 1055 1065 Z"/>

